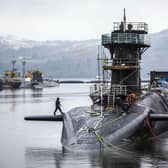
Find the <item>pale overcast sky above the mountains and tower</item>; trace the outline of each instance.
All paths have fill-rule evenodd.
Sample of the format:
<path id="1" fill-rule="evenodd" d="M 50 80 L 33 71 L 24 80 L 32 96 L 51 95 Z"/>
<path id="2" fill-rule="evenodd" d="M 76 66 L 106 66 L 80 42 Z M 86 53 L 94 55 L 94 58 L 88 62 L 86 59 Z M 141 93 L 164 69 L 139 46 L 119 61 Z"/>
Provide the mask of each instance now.
<path id="1" fill-rule="evenodd" d="M 121 21 L 144 21 L 149 32 L 168 28 L 168 0 L 0 0 L 0 34 L 32 40 L 100 38 Z"/>

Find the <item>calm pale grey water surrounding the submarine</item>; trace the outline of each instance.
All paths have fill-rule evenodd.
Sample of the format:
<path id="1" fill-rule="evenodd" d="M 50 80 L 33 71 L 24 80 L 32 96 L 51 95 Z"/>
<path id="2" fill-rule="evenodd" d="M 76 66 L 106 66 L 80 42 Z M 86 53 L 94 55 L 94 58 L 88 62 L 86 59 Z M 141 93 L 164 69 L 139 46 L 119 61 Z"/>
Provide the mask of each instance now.
<path id="1" fill-rule="evenodd" d="M 168 167 L 168 134 L 127 149 L 66 153 L 61 122 L 24 121 L 28 115 L 53 114 L 56 97 L 63 111 L 91 104 L 89 84 L 62 84 L 43 91 L 0 92 L 0 168 L 154 168 Z"/>

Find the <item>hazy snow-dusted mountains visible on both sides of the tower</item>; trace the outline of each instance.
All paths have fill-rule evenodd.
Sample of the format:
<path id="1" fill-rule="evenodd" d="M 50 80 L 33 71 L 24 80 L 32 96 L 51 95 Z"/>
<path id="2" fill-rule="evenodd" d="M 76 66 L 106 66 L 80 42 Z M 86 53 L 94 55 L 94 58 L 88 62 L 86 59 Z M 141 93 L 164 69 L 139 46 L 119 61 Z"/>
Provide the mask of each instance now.
<path id="1" fill-rule="evenodd" d="M 142 57 L 142 76 L 150 70 L 168 71 L 168 29 L 151 34 L 151 48 Z M 21 71 L 21 58 L 26 69 L 41 69 L 45 75 L 57 78 L 95 77 L 97 46 L 100 40 L 32 41 L 14 36 L 0 36 L 0 73 L 11 69 L 16 59 Z"/>

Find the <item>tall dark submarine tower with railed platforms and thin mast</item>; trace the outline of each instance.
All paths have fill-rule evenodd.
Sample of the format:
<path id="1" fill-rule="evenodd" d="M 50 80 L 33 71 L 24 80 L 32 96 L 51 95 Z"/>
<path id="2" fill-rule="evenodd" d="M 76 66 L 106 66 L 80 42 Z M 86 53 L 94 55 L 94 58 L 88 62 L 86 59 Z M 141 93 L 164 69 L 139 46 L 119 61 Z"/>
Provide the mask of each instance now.
<path id="1" fill-rule="evenodd" d="M 140 61 L 150 47 L 148 25 L 127 22 L 124 9 L 123 21 L 114 22 L 111 34 L 103 34 L 101 40 L 102 46 L 110 52 L 110 58 L 105 58 L 102 66 L 104 73 L 111 74 L 105 104 L 114 106 L 117 98 L 122 101 L 128 94 L 141 93 Z"/>

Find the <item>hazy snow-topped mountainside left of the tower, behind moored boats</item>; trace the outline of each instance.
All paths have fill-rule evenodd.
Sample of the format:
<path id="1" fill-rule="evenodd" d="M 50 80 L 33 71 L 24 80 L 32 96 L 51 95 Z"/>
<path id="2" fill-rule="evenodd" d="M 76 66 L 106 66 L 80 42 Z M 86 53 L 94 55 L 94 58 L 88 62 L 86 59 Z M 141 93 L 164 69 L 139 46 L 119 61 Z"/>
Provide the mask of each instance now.
<path id="1" fill-rule="evenodd" d="M 95 77 L 97 71 L 97 45 L 99 40 L 87 41 L 30 41 L 0 37 L 0 72 L 11 68 L 12 59 L 22 69 L 41 69 L 55 77 Z"/>

